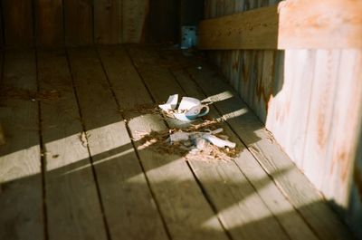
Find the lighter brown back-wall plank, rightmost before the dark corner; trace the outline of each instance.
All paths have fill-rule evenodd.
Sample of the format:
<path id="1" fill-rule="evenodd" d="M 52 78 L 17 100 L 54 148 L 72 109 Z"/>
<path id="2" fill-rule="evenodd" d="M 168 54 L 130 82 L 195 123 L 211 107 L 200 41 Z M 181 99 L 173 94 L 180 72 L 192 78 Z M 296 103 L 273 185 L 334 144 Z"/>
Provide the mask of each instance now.
<path id="1" fill-rule="evenodd" d="M 123 43 L 145 41 L 148 5 L 148 0 L 122 0 Z"/>

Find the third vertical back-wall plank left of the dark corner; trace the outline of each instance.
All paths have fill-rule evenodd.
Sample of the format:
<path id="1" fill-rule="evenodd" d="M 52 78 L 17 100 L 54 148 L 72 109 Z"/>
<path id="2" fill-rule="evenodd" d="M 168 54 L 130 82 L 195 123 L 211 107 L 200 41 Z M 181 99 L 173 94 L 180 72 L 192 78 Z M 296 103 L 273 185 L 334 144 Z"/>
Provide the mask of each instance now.
<path id="1" fill-rule="evenodd" d="M 93 41 L 91 0 L 63 0 L 65 44 L 89 45 Z"/>

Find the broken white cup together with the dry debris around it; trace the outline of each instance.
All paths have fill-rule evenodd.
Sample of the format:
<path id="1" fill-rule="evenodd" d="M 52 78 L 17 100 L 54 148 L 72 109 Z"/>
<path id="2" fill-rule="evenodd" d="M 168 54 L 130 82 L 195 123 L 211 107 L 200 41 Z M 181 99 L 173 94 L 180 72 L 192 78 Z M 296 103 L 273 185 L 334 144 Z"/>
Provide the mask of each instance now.
<path id="1" fill-rule="evenodd" d="M 120 111 L 126 115 L 132 112 L 157 114 L 165 120 L 172 118 L 183 121 L 188 126 L 150 133 L 138 132 L 140 149 L 197 160 L 231 160 L 238 155 L 240 148 L 223 134 L 220 120 L 205 118 L 209 110 L 208 104 L 195 98 L 183 97 L 178 102 L 178 94 L 175 94 L 169 96 L 165 104 L 141 104 Z"/>

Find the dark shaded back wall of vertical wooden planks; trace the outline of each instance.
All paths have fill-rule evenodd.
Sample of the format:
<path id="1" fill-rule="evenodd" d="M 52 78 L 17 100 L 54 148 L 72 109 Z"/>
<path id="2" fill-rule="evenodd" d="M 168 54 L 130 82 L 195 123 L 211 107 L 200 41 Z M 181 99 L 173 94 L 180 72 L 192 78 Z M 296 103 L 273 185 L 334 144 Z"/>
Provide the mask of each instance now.
<path id="1" fill-rule="evenodd" d="M 184 0 L 181 0 L 183 2 Z M 0 0 L 6 46 L 176 41 L 180 1 Z M 148 34 L 148 36 L 146 36 Z M 153 41 L 155 42 L 155 41 Z"/>

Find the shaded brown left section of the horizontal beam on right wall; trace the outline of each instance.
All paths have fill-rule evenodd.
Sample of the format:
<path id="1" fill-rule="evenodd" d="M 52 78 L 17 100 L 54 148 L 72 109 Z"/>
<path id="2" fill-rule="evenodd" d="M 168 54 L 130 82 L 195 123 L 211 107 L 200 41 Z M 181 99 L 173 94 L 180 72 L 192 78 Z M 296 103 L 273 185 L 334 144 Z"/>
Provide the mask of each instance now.
<path id="1" fill-rule="evenodd" d="M 200 49 L 274 49 L 278 45 L 276 6 L 207 19 L 199 24 Z M 219 14 L 220 16 L 220 14 Z"/>

